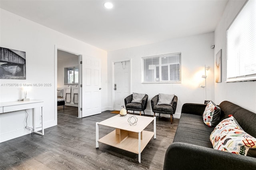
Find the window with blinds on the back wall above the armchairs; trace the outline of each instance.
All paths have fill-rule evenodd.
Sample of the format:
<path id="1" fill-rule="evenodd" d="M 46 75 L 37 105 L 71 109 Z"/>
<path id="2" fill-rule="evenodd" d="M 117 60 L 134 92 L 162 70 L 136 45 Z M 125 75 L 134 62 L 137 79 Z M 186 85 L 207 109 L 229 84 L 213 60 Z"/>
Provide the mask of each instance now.
<path id="1" fill-rule="evenodd" d="M 143 57 L 142 83 L 180 83 L 181 53 Z"/>

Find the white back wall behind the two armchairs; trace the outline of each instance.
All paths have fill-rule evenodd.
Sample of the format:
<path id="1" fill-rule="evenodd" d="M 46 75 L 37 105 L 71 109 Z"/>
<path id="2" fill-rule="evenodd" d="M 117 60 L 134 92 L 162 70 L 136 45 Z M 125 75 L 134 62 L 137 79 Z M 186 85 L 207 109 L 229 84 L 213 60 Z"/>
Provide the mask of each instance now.
<path id="1" fill-rule="evenodd" d="M 112 109 L 112 62 L 131 59 L 132 92 L 146 93 L 149 100 L 145 113 L 152 115 L 150 99 L 158 93 L 175 94 L 178 105 L 174 117 L 180 117 L 184 103 L 204 103 L 204 65 L 210 66 L 207 77 L 207 99 L 214 99 L 214 33 L 178 38 L 166 42 L 142 45 L 108 52 L 108 106 Z M 181 52 L 182 83 L 142 84 L 141 57 Z"/>

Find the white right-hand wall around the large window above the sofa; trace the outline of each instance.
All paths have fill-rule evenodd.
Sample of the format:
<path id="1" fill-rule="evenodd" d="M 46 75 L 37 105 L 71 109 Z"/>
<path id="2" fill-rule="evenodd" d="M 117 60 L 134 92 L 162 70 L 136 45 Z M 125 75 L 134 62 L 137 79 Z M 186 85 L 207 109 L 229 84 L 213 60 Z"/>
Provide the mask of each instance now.
<path id="1" fill-rule="evenodd" d="M 214 56 L 222 49 L 222 82 L 214 83 L 214 101 L 220 104 L 227 100 L 256 113 L 256 82 L 225 83 L 227 75 L 226 30 L 242 9 L 246 0 L 228 1 L 222 18 L 215 30 Z"/>

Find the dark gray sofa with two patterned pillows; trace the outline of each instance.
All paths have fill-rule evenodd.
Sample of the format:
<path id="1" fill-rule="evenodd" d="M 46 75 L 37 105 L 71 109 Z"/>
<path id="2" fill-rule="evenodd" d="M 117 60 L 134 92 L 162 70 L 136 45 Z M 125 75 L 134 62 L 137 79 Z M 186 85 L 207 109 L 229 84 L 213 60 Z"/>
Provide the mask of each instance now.
<path id="1" fill-rule="evenodd" d="M 256 158 L 213 149 L 209 128 L 202 120 L 206 105 L 186 103 L 173 143 L 166 150 L 164 170 L 256 170 Z M 220 121 L 233 115 L 245 132 L 256 138 L 256 113 L 223 101 Z"/>

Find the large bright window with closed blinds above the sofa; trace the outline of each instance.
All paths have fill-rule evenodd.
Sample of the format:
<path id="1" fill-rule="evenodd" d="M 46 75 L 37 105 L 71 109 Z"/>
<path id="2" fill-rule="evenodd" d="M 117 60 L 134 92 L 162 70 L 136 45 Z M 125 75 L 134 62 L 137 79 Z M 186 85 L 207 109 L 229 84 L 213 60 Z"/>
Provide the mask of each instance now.
<path id="1" fill-rule="evenodd" d="M 248 0 L 227 30 L 227 82 L 256 80 L 256 1 Z"/>

